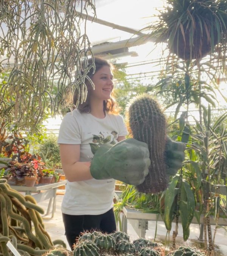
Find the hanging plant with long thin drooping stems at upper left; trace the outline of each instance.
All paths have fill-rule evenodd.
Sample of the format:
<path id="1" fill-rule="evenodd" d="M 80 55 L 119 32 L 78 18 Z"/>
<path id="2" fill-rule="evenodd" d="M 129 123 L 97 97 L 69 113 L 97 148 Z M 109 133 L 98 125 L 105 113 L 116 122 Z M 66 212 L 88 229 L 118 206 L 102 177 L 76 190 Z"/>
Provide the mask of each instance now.
<path id="1" fill-rule="evenodd" d="M 6 120 L 12 115 L 18 127 L 34 128 L 47 109 L 56 114 L 73 107 L 73 92 L 87 74 L 80 72 L 81 60 L 92 54 L 81 15 L 87 9 L 95 16 L 93 0 L 0 2 L 0 72 L 8 74 L 0 112 Z M 86 87 L 80 95 L 86 100 Z"/>

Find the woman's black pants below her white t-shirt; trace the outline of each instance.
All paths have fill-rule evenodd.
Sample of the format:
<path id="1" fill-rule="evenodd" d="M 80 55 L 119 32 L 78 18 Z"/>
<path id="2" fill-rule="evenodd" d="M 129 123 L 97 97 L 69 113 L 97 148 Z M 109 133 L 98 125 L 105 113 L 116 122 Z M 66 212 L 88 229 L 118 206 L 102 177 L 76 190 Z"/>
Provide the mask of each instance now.
<path id="1" fill-rule="evenodd" d="M 62 217 L 65 235 L 72 250 L 73 244 L 81 232 L 96 230 L 110 234 L 117 229 L 113 209 L 100 215 L 68 215 L 62 213 Z"/>

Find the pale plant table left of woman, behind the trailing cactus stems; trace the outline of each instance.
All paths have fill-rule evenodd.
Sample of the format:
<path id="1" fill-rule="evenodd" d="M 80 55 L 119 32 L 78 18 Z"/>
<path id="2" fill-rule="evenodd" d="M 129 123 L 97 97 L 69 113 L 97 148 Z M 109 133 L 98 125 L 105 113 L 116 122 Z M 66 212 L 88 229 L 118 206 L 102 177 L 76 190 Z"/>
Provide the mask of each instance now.
<path id="1" fill-rule="evenodd" d="M 52 213 L 51 218 L 54 216 L 54 212 L 56 210 L 56 192 L 57 188 L 59 186 L 62 186 L 67 183 L 67 180 L 62 180 L 60 182 L 56 183 L 50 183 L 50 184 L 38 184 L 35 186 L 23 186 L 23 185 L 10 185 L 12 189 L 17 190 L 19 192 L 25 192 L 26 195 L 33 196 L 34 199 L 36 199 L 36 202 L 42 202 L 44 200 L 49 199 L 49 204 L 47 208 L 48 215 L 50 213 L 50 208 L 53 200 L 53 206 L 52 206 Z"/>

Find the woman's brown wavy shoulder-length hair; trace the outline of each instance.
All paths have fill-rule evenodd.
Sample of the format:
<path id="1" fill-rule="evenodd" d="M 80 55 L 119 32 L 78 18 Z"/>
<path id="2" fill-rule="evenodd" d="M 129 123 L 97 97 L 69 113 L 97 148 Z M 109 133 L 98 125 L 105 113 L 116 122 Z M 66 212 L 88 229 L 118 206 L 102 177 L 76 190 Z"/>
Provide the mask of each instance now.
<path id="1" fill-rule="evenodd" d="M 94 71 L 94 67 L 93 64 L 95 65 L 95 73 L 100 70 L 103 66 L 109 66 L 110 69 L 112 71 L 114 71 L 114 66 L 107 62 L 107 60 L 104 60 L 103 58 L 89 58 L 87 60 L 87 66 L 91 66 L 89 72 L 87 73 L 87 76 L 92 79 L 93 75 L 93 71 Z M 84 62 L 81 65 L 82 67 L 84 67 Z M 81 74 L 83 75 L 84 72 L 81 70 Z M 89 79 L 85 78 L 85 82 L 84 82 L 87 86 L 87 98 L 86 101 L 83 103 L 79 103 L 77 109 L 81 112 L 81 113 L 90 113 L 91 112 L 91 106 L 90 106 L 90 92 L 91 90 L 93 90 L 92 88 L 92 84 L 89 81 Z M 79 87 L 81 89 L 82 84 L 79 84 Z M 113 93 L 113 92 L 112 92 Z M 76 105 L 76 102 L 78 102 L 79 100 L 79 93 L 78 90 L 75 90 L 74 94 L 73 94 L 73 104 Z M 118 111 L 116 109 L 116 103 L 114 98 L 111 96 L 111 98 L 109 100 L 104 100 L 103 101 L 103 110 L 106 111 L 107 113 L 112 113 L 112 114 L 118 114 Z"/>

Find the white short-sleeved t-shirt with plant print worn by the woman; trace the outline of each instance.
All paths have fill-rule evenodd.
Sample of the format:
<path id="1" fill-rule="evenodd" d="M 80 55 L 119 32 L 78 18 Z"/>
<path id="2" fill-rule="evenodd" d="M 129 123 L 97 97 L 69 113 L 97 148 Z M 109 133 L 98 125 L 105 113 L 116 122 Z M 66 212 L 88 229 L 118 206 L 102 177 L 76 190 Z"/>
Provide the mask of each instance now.
<path id="1" fill-rule="evenodd" d="M 103 119 L 73 110 L 62 120 L 58 143 L 81 144 L 80 161 L 92 160 L 92 150 L 104 143 L 116 144 L 118 136 L 126 136 L 127 128 L 120 115 L 107 114 Z M 69 215 L 98 215 L 113 206 L 115 180 L 67 182 L 61 210 Z"/>

